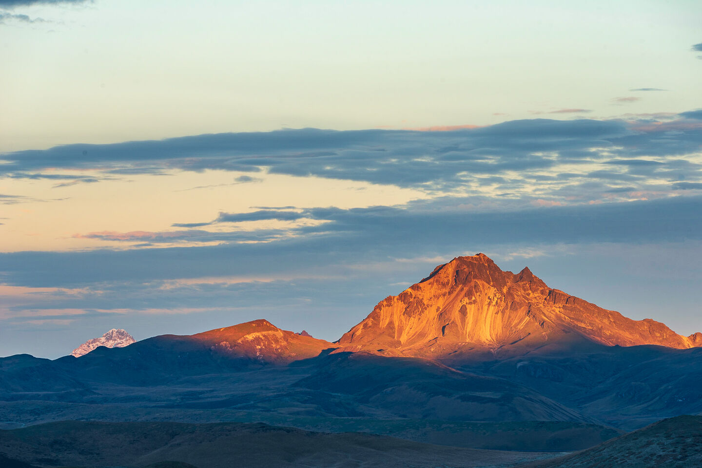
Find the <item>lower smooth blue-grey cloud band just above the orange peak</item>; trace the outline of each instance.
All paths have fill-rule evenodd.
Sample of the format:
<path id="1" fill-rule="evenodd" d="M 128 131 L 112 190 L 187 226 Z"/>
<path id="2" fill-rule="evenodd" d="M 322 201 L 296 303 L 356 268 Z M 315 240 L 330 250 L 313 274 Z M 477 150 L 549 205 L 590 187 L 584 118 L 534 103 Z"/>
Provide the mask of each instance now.
<path id="1" fill-rule="evenodd" d="M 498 212 L 467 211 L 465 203 L 470 200 L 349 210 L 309 208 L 305 215 L 327 222 L 299 227 L 295 235 L 269 242 L 0 253 L 0 275 L 18 286 L 68 287 L 240 274 L 329 274 L 344 265 L 417 253 L 446 255 L 467 246 L 702 239 L 702 218 L 696 216 L 702 212 L 700 196 Z"/>

